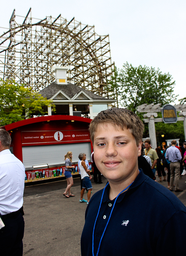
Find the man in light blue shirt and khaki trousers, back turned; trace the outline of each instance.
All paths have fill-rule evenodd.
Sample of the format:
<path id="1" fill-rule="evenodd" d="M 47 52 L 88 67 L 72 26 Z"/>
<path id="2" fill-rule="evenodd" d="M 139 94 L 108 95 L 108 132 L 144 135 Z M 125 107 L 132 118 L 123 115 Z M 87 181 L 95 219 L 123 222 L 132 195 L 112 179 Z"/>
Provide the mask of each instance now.
<path id="1" fill-rule="evenodd" d="M 175 178 L 175 192 L 181 192 L 182 189 L 179 188 L 180 179 L 180 161 L 182 155 L 180 150 L 176 147 L 176 140 L 171 142 L 171 147 L 167 148 L 165 158 L 170 161 L 170 191 L 173 190 L 173 182 Z"/>

